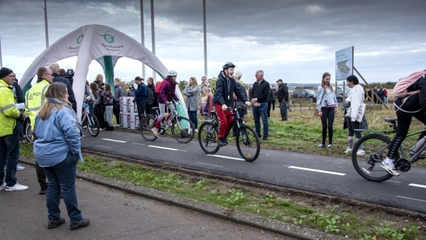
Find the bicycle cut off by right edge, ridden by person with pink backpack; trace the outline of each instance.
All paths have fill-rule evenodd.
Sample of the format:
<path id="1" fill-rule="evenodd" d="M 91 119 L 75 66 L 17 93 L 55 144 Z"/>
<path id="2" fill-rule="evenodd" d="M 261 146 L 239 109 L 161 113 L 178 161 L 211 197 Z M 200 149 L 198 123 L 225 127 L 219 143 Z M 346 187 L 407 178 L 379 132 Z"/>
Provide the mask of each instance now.
<path id="1" fill-rule="evenodd" d="M 361 177 L 366 180 L 372 182 L 383 182 L 393 177 L 390 173 L 386 172 L 379 165 L 386 158 L 389 151 L 389 146 L 391 145 L 391 139 L 386 135 L 390 135 L 391 133 L 396 133 L 396 122 L 397 119 L 385 118 L 386 122 L 390 123 L 390 127 L 393 129 L 392 131 L 374 131 L 368 129 L 359 129 L 359 131 L 368 131 L 372 132 L 366 136 L 363 136 L 356 141 L 354 148 L 352 148 L 352 163 L 356 172 L 361 175 Z M 426 132 L 426 129 L 421 131 L 416 131 L 415 133 L 410 133 L 407 137 L 418 135 Z M 363 146 L 365 155 L 364 156 L 356 156 L 356 152 Z M 426 148 L 426 143 L 417 151 L 417 153 L 413 154 L 407 160 L 405 156 L 405 151 L 403 148 L 403 144 L 401 144 L 399 151 L 395 154 L 396 170 L 400 172 L 406 173 L 410 170 L 411 165 L 417 160 L 425 158 L 423 151 Z"/>

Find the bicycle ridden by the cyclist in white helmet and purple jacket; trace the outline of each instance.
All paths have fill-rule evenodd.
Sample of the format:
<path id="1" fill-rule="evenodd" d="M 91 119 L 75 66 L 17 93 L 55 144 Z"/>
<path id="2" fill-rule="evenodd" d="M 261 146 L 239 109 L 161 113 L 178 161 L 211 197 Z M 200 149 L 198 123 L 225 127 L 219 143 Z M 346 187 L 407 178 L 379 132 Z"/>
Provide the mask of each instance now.
<path id="1" fill-rule="evenodd" d="M 157 122 L 157 119 L 160 114 L 158 107 L 153 107 L 152 111 L 154 111 L 155 114 L 143 115 L 141 123 L 139 125 L 141 136 L 146 141 L 155 141 L 155 139 L 157 139 L 157 136 L 154 135 L 152 129 L 155 127 L 155 123 Z M 178 110 L 176 110 L 176 108 L 175 111 L 165 117 L 165 121 L 161 121 L 158 133 L 160 135 L 164 135 L 165 131 L 167 131 L 169 128 L 171 128 L 172 136 L 179 143 L 189 143 L 192 138 L 194 138 L 194 124 L 192 124 L 192 121 L 190 121 L 190 119 L 187 119 L 185 116 L 179 116 Z"/>

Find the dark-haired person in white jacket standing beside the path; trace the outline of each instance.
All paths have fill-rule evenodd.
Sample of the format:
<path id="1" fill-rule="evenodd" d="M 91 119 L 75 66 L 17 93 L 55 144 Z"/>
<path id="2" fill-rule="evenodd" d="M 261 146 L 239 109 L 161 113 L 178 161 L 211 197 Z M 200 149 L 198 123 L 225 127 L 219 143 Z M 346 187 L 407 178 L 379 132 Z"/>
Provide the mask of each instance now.
<path id="1" fill-rule="evenodd" d="M 346 83 L 348 84 L 348 87 L 351 88 L 351 91 L 348 94 L 348 97 L 346 97 L 346 106 L 350 106 L 347 109 L 347 114 L 344 116 L 346 119 L 346 124 L 348 124 L 348 148 L 344 153 L 350 153 L 352 151 L 352 145 L 354 143 L 354 135 L 356 137 L 356 140 L 361 138 L 361 133 L 359 131 L 355 131 L 354 129 L 360 129 L 360 124 L 356 120 L 356 115 L 358 114 L 359 107 L 364 101 L 364 87 L 359 84 L 359 80 L 356 76 L 350 75 L 346 78 Z M 359 150 L 356 151 L 357 156 L 364 156 L 365 152 L 360 146 Z"/>

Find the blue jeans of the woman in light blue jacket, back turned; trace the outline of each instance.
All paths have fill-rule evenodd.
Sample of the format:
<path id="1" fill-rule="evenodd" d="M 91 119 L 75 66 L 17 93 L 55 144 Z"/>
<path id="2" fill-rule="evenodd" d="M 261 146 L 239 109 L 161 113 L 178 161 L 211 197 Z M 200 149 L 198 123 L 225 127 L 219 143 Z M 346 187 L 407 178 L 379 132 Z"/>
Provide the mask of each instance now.
<path id="1" fill-rule="evenodd" d="M 50 221 L 58 221 L 60 218 L 60 190 L 67 207 L 68 217 L 71 224 L 76 224 L 82 220 L 82 214 L 77 205 L 77 194 L 75 192 L 75 171 L 77 168 L 78 155 L 67 154 L 67 158 L 62 162 L 44 170 L 48 176 L 48 195 L 46 206 L 48 207 L 48 218 Z"/>

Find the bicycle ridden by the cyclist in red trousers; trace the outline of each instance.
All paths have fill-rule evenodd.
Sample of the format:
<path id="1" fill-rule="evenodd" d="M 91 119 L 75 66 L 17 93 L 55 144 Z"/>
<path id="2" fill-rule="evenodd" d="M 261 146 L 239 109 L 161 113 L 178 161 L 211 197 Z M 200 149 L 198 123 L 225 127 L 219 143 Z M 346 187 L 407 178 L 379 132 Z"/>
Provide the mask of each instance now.
<path id="1" fill-rule="evenodd" d="M 229 135 L 229 132 L 236 125 L 236 149 L 238 149 L 239 155 L 248 162 L 253 162 L 261 153 L 261 142 L 251 126 L 244 124 L 244 117 L 239 115 L 239 109 L 246 109 L 246 105 L 238 107 L 232 107 L 230 110 L 234 115 L 234 121 L 226 130 L 225 138 Z M 198 129 L 198 143 L 204 153 L 214 154 L 219 151 L 219 119 L 215 110 L 210 112 L 212 120 L 204 121 Z"/>

